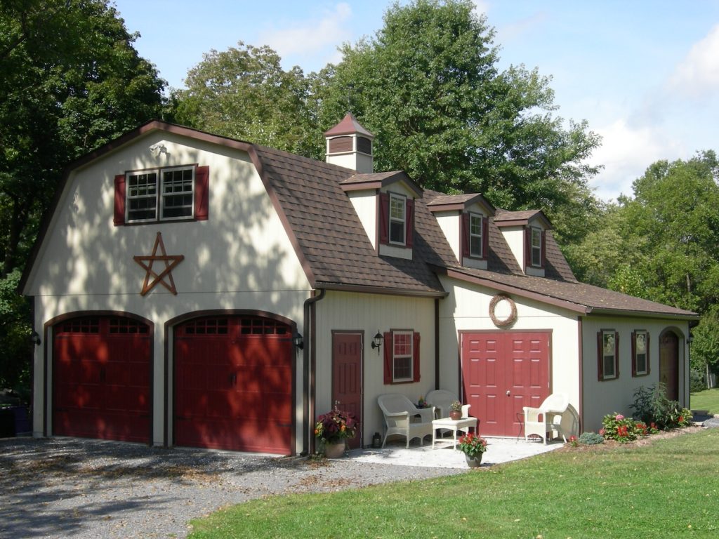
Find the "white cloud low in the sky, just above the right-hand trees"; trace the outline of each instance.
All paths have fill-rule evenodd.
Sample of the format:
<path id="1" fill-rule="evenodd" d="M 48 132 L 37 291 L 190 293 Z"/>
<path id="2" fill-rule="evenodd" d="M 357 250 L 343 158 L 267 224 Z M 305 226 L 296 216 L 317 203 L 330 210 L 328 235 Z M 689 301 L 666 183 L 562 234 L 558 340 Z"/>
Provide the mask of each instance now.
<path id="1" fill-rule="evenodd" d="M 664 136 L 656 126 L 632 126 L 625 119 L 594 129 L 602 136 L 602 146 L 595 150 L 591 162 L 604 165 L 592 180 L 598 198 L 605 201 L 618 195 L 632 195 L 632 183 L 649 165 L 661 160 L 682 157 L 682 147 Z"/>

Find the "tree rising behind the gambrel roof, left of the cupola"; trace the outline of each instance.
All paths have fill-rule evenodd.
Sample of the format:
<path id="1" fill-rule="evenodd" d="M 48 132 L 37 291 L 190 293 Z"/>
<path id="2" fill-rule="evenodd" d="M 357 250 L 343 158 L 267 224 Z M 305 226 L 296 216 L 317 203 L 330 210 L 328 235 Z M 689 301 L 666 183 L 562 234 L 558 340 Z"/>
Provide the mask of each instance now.
<path id="1" fill-rule="evenodd" d="M 308 135 L 308 81 L 300 68 L 284 71 L 270 47 L 239 42 L 204 55 L 175 91 L 180 124 L 235 139 L 319 157 Z"/>

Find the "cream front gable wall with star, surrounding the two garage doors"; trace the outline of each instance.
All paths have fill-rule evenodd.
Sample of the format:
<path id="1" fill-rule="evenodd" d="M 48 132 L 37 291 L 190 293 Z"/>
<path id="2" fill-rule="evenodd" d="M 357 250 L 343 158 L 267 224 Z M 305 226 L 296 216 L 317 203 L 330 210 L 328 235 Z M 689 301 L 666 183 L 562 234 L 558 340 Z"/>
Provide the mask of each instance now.
<path id="1" fill-rule="evenodd" d="M 210 168 L 208 221 L 113 225 L 115 175 L 195 163 Z M 172 272 L 176 296 L 159 285 L 145 297 L 139 294 L 145 270 L 132 257 L 151 254 L 157 232 L 167 254 L 185 257 Z M 35 296 L 38 331 L 59 315 L 86 311 L 133 313 L 150 320 L 155 330 L 152 442 L 159 444 L 169 397 L 165 377 L 171 380 L 172 375 L 164 371 L 165 323 L 194 311 L 248 309 L 282 315 L 301 328 L 310 285 L 246 153 L 152 132 L 73 172 L 24 292 Z M 168 336 L 171 369 L 171 331 Z M 51 336 L 47 341 L 52 342 Z M 44 384 L 45 346 L 47 342 L 35 350 L 36 395 Z M 52 367 L 49 355 L 47 361 Z M 301 372 L 298 356 L 300 381 Z M 51 372 L 48 377 L 50 392 Z M 301 403 L 299 383 L 297 395 Z M 47 398 L 52 402 L 52 395 Z M 301 405 L 297 409 L 301 413 Z M 35 435 L 42 433 L 42 413 L 35 407 Z M 297 418 L 301 441 L 301 416 Z"/>

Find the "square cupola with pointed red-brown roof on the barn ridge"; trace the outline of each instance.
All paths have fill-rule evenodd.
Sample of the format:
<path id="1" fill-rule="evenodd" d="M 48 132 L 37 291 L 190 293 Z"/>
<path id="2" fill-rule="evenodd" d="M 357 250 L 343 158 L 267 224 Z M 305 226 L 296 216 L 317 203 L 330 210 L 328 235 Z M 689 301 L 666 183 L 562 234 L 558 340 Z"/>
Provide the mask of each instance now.
<path id="1" fill-rule="evenodd" d="M 339 124 L 325 132 L 324 137 L 326 162 L 351 168 L 360 174 L 371 174 L 374 171 L 372 140 L 375 135 L 359 124 L 352 113 L 348 112 Z"/>

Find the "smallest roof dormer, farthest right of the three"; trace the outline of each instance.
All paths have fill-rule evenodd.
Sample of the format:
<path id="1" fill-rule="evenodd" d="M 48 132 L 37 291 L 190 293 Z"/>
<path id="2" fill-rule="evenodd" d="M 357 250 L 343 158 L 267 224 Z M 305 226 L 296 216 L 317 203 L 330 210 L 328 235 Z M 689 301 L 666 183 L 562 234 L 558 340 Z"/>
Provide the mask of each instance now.
<path id="1" fill-rule="evenodd" d="M 524 273 L 544 277 L 546 231 L 551 230 L 551 223 L 544 213 L 539 210 L 501 211 L 494 222 Z"/>

